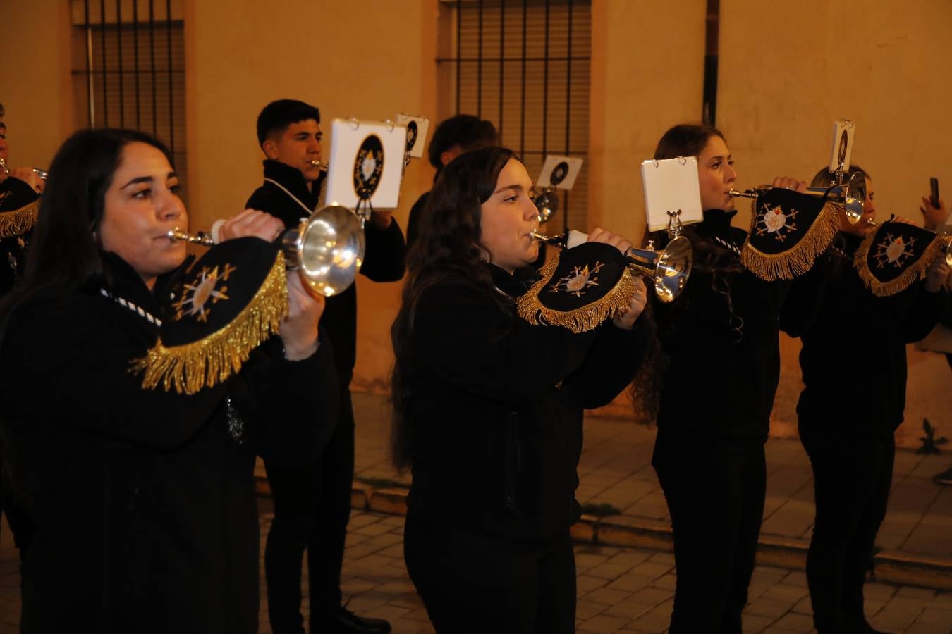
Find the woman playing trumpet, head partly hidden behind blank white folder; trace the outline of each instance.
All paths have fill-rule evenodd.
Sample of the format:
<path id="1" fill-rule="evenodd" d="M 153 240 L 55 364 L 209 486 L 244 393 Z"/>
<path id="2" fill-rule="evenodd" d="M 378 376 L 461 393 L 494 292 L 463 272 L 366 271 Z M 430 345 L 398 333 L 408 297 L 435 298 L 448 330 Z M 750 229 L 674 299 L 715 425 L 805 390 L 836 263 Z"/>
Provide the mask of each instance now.
<path id="1" fill-rule="evenodd" d="M 679 156 L 698 158 L 704 221 L 684 228 L 694 248 L 690 283 L 676 301 L 651 305 L 660 349 L 635 379 L 636 405 L 657 413 L 652 465 L 671 515 L 678 576 L 669 631 L 740 634 L 764 514 L 777 320 L 791 284 L 764 281 L 741 264 L 746 233 L 731 226 L 737 173 L 724 135 L 675 125 L 654 158 Z M 778 178 L 774 186 L 803 191 L 805 183 Z M 666 240 L 664 232 L 648 237 Z M 665 365 L 660 381 L 646 372 Z"/>

